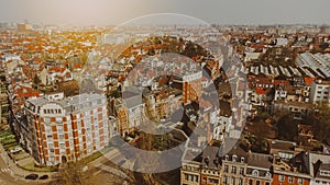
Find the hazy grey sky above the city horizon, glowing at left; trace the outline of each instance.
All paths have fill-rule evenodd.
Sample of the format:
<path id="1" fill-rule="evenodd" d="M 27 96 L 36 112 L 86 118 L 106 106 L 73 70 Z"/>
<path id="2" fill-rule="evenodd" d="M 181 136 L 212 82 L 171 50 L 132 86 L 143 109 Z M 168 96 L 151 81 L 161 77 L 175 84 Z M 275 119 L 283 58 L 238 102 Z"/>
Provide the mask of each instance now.
<path id="1" fill-rule="evenodd" d="M 121 24 L 179 13 L 220 24 L 330 24 L 330 0 L 0 0 L 0 22 Z"/>

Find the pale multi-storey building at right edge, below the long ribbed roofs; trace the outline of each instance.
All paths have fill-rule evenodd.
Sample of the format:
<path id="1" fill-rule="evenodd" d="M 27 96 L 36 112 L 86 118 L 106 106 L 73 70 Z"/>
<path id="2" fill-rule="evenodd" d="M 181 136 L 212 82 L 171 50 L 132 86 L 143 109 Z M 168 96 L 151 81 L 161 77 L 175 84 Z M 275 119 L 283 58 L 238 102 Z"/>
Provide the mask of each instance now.
<path id="1" fill-rule="evenodd" d="M 330 81 L 316 80 L 311 84 L 310 101 L 312 103 L 326 102 L 330 103 Z"/>

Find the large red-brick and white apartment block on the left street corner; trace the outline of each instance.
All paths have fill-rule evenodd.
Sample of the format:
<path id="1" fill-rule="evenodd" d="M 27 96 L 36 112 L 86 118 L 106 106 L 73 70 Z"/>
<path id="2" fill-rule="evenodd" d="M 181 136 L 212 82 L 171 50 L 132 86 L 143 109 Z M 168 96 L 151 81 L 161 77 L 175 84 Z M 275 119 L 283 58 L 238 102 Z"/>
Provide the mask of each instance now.
<path id="1" fill-rule="evenodd" d="M 101 94 L 30 99 L 24 112 L 25 148 L 45 165 L 76 161 L 101 150 L 109 140 L 107 99 Z"/>

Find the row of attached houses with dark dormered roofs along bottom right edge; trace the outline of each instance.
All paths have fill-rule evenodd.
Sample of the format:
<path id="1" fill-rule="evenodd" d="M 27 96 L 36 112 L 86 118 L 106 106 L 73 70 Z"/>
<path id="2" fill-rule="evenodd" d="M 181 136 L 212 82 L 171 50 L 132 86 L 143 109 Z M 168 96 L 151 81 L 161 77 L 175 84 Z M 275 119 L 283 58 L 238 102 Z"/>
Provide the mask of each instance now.
<path id="1" fill-rule="evenodd" d="M 228 143 L 232 143 L 230 146 Z M 201 154 L 188 148 L 180 169 L 182 185 L 315 185 L 329 184 L 330 155 L 324 153 L 295 153 L 290 159 L 278 154 L 249 151 L 239 140 L 223 146 L 208 146 Z M 280 144 L 280 143 L 279 143 Z M 199 151 L 200 152 L 200 151 Z M 188 160 L 190 159 L 190 160 Z"/>

